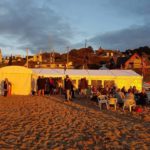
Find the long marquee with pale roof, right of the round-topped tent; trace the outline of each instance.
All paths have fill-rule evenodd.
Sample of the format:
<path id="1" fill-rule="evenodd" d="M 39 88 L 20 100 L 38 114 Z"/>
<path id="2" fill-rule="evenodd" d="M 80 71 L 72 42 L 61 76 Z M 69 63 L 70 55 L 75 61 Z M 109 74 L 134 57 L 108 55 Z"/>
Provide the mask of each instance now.
<path id="1" fill-rule="evenodd" d="M 114 81 L 118 88 L 125 86 L 136 86 L 139 91 L 142 89 L 142 76 L 132 70 L 87 70 L 87 69 L 32 69 L 33 78 L 44 77 L 62 77 L 69 75 L 74 81 L 76 87 L 81 78 L 85 77 L 89 85 L 101 83 L 104 85 L 108 81 Z"/>

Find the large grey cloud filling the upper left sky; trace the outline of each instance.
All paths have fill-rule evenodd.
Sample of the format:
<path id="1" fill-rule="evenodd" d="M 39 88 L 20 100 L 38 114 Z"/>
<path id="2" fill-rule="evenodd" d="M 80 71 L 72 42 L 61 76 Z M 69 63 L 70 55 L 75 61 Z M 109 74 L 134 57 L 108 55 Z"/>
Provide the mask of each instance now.
<path id="1" fill-rule="evenodd" d="M 69 45 L 71 27 L 51 8 L 51 0 L 1 0 L 0 36 L 15 40 L 17 49 L 61 49 Z M 6 45 L 0 42 L 0 45 Z M 14 45 L 12 44 L 14 47 Z M 7 45 L 6 45 L 7 47 Z"/>

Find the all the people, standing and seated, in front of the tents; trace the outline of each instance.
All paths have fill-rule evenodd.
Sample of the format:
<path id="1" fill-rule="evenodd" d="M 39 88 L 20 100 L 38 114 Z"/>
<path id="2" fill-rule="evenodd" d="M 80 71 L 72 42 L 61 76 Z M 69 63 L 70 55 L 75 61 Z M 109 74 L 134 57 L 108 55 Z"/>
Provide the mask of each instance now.
<path id="1" fill-rule="evenodd" d="M 3 85 L 4 96 L 11 95 L 12 86 L 7 78 L 4 80 Z M 37 92 L 34 91 L 32 94 L 34 95 L 35 93 L 39 96 L 44 96 L 45 94 L 64 94 L 66 102 L 72 101 L 75 95 L 78 94 L 80 96 L 90 95 L 91 100 L 95 102 L 98 102 L 100 95 L 106 95 L 108 99 L 113 97 L 117 99 L 117 104 L 121 107 L 129 99 L 136 105 L 146 106 L 148 104 L 148 95 L 145 89 L 139 92 L 135 86 L 129 89 L 126 89 L 125 86 L 120 89 L 114 85 L 105 85 L 104 87 L 102 85 L 88 86 L 85 77 L 80 79 L 78 88 L 76 88 L 68 75 L 66 75 L 64 81 L 62 78 L 44 78 L 39 76 L 37 79 Z"/>

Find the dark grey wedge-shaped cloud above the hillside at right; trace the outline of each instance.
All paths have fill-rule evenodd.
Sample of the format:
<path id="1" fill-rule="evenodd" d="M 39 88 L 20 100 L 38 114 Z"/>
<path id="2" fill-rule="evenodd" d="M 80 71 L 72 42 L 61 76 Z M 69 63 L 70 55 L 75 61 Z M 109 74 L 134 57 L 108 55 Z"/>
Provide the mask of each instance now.
<path id="1" fill-rule="evenodd" d="M 150 25 L 132 26 L 128 29 L 97 35 L 89 41 L 96 47 L 108 49 L 133 49 L 140 46 L 150 46 Z"/>

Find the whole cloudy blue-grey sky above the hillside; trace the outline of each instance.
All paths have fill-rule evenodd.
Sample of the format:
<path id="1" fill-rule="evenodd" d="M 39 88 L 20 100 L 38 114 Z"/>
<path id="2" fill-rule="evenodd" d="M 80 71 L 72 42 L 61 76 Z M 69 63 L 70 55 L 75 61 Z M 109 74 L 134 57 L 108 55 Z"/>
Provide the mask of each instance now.
<path id="1" fill-rule="evenodd" d="M 3 55 L 150 46 L 150 0 L 0 0 Z"/>

